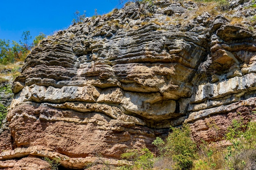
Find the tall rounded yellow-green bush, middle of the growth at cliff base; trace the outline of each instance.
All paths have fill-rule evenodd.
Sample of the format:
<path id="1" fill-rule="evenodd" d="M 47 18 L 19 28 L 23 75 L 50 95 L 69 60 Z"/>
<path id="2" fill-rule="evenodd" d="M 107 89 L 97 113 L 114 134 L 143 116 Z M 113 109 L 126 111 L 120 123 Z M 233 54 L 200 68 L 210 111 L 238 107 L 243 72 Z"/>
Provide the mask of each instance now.
<path id="1" fill-rule="evenodd" d="M 173 170 L 189 170 L 193 166 L 193 160 L 197 159 L 197 147 L 190 137 L 189 125 L 184 124 L 181 128 L 171 127 L 171 132 L 165 141 L 157 138 L 153 144 L 162 156 L 171 157 L 174 164 Z"/>

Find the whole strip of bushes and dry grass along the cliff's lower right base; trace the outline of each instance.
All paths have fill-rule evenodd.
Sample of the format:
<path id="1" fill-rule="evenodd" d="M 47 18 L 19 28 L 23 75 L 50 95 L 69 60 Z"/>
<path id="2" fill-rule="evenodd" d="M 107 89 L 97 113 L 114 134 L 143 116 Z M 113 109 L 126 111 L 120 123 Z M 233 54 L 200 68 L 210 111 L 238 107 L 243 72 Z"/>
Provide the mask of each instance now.
<path id="1" fill-rule="evenodd" d="M 165 138 L 157 137 L 153 144 L 157 157 L 147 148 L 128 150 L 122 158 L 132 166 L 119 170 L 251 170 L 256 169 L 256 122 L 245 124 L 234 119 L 222 142 L 196 143 L 188 124 L 173 128 Z"/>

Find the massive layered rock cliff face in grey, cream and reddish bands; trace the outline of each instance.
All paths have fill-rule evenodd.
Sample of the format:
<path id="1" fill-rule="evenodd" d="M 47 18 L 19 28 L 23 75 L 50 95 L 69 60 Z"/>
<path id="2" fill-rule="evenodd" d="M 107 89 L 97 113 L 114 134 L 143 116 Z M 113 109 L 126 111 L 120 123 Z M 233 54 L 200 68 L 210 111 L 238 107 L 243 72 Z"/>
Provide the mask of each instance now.
<path id="1" fill-rule="evenodd" d="M 1 149 L 0 169 L 26 157 L 82 169 L 99 154 L 122 164 L 121 153 L 153 150 L 170 126 L 187 122 L 195 140 L 209 141 L 238 112 L 254 118 L 256 28 L 232 23 L 253 21 L 250 5 L 232 1 L 231 14 L 218 15 L 191 1 L 130 4 L 43 40 L 13 83 L 12 146 Z"/>

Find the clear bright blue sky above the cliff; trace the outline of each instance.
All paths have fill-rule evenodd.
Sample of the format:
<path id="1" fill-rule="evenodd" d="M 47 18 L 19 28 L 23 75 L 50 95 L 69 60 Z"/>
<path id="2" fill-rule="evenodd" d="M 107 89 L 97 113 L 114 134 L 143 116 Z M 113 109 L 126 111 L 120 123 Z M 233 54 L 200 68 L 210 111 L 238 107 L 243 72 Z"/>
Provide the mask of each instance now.
<path id="1" fill-rule="evenodd" d="M 52 35 L 72 24 L 76 10 L 86 16 L 121 8 L 119 0 L 0 0 L 0 39 L 19 42 L 23 31 L 32 39 L 40 32 Z"/>

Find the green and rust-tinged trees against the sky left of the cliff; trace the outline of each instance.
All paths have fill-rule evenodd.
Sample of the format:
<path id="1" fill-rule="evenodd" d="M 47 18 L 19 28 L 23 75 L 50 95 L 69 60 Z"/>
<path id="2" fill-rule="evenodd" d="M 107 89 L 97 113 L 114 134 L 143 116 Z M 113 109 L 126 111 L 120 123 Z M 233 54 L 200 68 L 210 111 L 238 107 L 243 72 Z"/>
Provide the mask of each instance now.
<path id="1" fill-rule="evenodd" d="M 45 38 L 45 34 L 37 35 L 33 43 L 30 43 L 32 37 L 30 31 L 24 31 L 20 42 L 0 39 L 0 64 L 7 65 L 14 62 L 24 61 L 29 51 L 37 46 L 41 40 Z"/>

